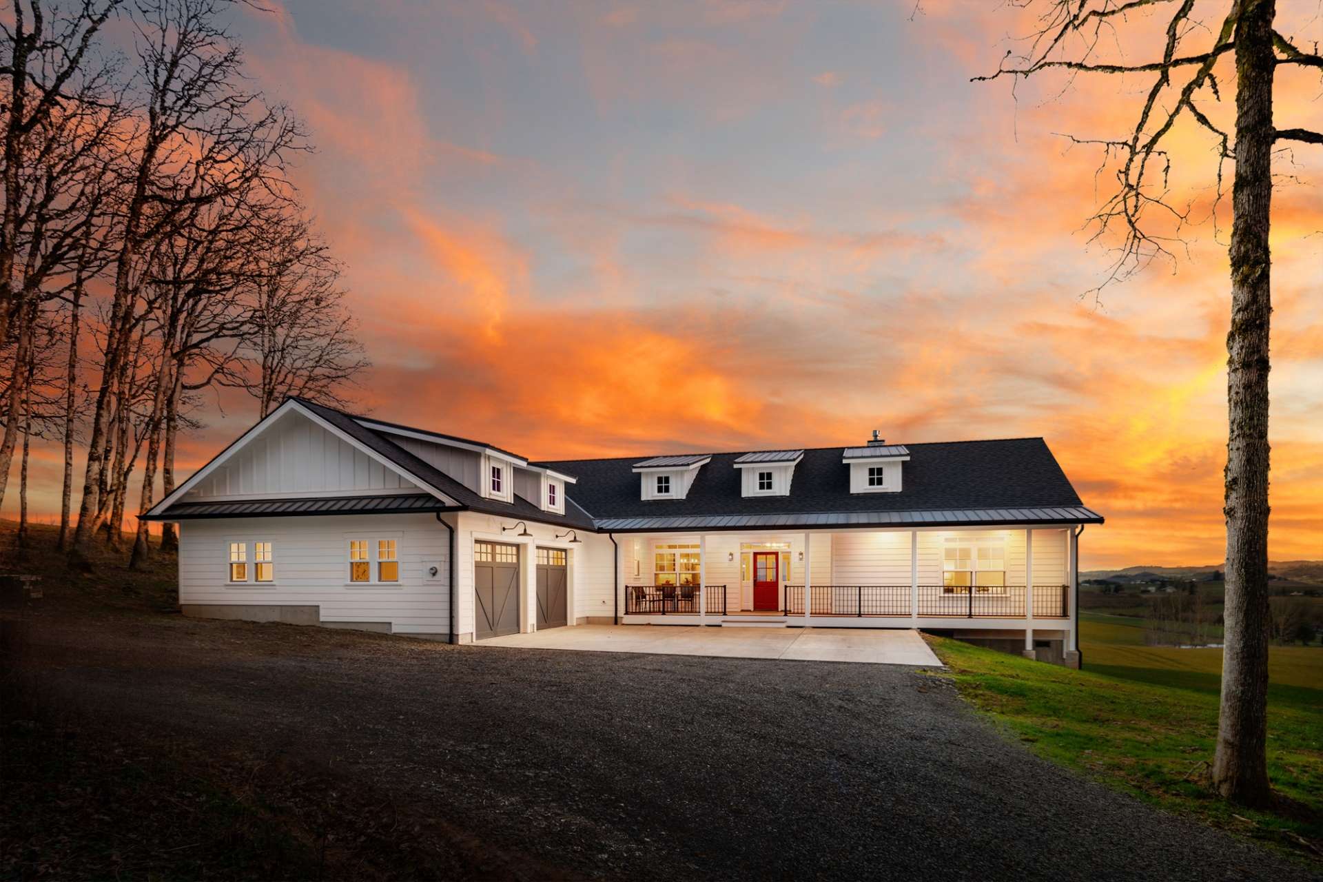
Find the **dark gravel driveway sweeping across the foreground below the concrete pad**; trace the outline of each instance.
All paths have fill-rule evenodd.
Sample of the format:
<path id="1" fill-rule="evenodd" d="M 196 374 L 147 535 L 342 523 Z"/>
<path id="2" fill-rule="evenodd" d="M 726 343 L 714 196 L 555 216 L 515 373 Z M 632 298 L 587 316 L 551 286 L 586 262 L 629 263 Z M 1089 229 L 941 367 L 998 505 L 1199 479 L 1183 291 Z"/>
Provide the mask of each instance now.
<path id="1" fill-rule="evenodd" d="M 890 665 L 447 647 L 161 618 L 38 632 L 52 690 L 421 805 L 491 874 L 1294 879 Z"/>

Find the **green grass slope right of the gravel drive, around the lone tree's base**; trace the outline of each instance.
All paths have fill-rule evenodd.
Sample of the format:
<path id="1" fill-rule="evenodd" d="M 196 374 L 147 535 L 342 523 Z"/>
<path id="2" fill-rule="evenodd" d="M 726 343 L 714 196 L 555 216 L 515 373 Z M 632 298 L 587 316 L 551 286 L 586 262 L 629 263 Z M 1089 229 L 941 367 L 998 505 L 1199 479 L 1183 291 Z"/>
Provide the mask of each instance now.
<path id="1" fill-rule="evenodd" d="M 1273 647 L 1271 811 L 1209 787 L 1221 649 L 1143 645 L 1142 623 L 1084 614 L 1084 670 L 929 637 L 960 693 L 1041 756 L 1164 809 L 1323 861 L 1323 648 Z"/>

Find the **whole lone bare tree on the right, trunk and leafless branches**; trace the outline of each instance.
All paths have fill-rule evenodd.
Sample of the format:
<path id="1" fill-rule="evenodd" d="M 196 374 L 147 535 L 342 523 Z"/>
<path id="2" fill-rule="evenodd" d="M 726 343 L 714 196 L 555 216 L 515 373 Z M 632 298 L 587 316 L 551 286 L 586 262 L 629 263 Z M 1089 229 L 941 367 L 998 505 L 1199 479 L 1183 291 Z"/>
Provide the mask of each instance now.
<path id="1" fill-rule="evenodd" d="M 1229 435 L 1225 469 L 1226 648 L 1213 780 L 1237 801 L 1270 799 L 1267 739 L 1267 374 L 1271 312 L 1269 227 L 1273 151 L 1281 141 L 1323 144 L 1323 134 L 1277 128 L 1273 81 L 1278 66 L 1323 67 L 1323 56 L 1299 49 L 1277 21 L 1274 0 L 1023 0 L 1012 7 L 1037 15 L 1020 48 L 1005 53 L 996 73 L 975 79 L 1016 82 L 1060 71 L 1068 79 L 1107 74 L 1148 81 L 1134 126 L 1117 138 L 1073 139 L 1103 152 L 1114 184 L 1093 216 L 1093 241 L 1117 237 L 1109 282 L 1174 258 L 1192 202 L 1168 186 L 1170 141 L 1176 131 L 1205 132 L 1215 172 L 1215 205 L 1222 171 L 1233 164 L 1230 300 L 1226 336 Z M 1216 11 L 1209 19 L 1208 11 Z M 1164 16 L 1159 13 L 1166 11 Z M 1152 22 L 1152 24 L 1151 24 Z M 1125 37 L 1150 36 L 1162 24 L 1159 54 L 1131 61 Z M 1218 112 L 1234 89 L 1234 119 Z M 1211 175 L 1213 176 L 1213 175 Z M 1099 176 L 1102 177 L 1102 176 Z"/>

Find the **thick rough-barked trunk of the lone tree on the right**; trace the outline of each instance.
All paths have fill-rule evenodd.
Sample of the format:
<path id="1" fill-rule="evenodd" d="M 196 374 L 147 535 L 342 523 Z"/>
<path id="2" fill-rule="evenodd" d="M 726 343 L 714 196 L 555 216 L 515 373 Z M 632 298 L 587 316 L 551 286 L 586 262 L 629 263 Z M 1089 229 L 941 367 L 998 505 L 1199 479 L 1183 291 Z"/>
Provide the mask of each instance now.
<path id="1" fill-rule="evenodd" d="M 1226 648 L 1213 783 L 1270 799 L 1267 747 L 1269 221 L 1273 198 L 1274 0 L 1244 0 L 1236 25 L 1232 325 L 1226 335 Z"/>

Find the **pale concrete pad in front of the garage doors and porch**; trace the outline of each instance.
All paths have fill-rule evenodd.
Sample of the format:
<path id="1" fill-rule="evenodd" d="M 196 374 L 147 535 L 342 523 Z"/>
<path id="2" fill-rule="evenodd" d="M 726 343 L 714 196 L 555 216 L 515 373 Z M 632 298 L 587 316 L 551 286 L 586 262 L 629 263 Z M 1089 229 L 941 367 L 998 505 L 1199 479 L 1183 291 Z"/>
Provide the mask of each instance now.
<path id="1" fill-rule="evenodd" d="M 491 637 L 474 645 L 934 668 L 942 664 L 917 631 L 901 629 L 583 624 Z"/>

